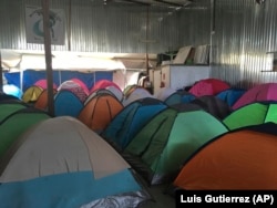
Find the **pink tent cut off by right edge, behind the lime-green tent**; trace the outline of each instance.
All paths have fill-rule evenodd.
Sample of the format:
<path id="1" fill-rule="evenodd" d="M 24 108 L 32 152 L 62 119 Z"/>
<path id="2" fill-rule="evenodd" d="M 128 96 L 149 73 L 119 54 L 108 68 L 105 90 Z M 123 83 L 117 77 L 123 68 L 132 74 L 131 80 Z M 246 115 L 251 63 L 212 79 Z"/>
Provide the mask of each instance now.
<path id="1" fill-rule="evenodd" d="M 244 105 L 259 101 L 277 101 L 277 83 L 263 83 L 246 91 L 232 106 L 237 110 Z"/>

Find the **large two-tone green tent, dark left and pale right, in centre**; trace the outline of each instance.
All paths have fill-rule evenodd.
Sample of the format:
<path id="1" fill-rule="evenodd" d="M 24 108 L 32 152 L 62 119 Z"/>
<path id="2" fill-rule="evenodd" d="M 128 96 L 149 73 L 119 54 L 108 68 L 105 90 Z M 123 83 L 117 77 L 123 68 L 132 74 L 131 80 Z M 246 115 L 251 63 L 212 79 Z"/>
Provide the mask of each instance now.
<path id="1" fill-rule="evenodd" d="M 123 157 L 151 184 L 171 183 L 183 163 L 227 127 L 203 110 L 166 108 L 132 139 Z"/>

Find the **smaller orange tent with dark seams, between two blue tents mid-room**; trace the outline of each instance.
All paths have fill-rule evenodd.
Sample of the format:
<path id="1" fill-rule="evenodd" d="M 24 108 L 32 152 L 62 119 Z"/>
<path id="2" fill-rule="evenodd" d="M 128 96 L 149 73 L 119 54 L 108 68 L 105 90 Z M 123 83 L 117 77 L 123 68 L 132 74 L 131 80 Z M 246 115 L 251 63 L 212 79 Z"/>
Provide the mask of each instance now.
<path id="1" fill-rule="evenodd" d="M 86 102 L 78 118 L 100 134 L 122 108 L 122 103 L 115 96 L 99 94 Z"/>

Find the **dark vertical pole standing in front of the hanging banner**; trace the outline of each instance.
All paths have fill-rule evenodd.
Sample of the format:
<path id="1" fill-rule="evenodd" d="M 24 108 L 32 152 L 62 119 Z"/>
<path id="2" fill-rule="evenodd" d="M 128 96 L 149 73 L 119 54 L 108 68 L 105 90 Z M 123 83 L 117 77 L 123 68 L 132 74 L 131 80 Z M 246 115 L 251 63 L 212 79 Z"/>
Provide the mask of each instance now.
<path id="1" fill-rule="evenodd" d="M 53 70 L 52 70 L 52 52 L 51 52 L 51 35 L 49 21 L 49 0 L 42 0 L 43 10 L 43 32 L 44 32 L 44 52 L 48 80 L 48 111 L 51 116 L 54 116 L 54 98 L 53 98 Z"/>

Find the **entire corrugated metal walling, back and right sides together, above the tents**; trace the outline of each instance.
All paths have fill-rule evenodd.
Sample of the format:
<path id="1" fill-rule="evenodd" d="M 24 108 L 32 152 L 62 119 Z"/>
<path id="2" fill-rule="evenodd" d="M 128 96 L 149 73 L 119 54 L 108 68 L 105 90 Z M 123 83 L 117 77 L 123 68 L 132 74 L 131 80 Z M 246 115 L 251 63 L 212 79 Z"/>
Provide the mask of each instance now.
<path id="1" fill-rule="evenodd" d="M 66 17 L 65 44 L 53 50 L 161 53 L 212 43 L 213 77 L 238 87 L 276 81 L 275 72 L 261 72 L 271 70 L 273 53 L 268 52 L 277 51 L 276 0 L 265 4 L 254 0 L 195 0 L 181 10 L 151 7 L 148 19 L 146 7 L 109 2 L 52 0 L 51 8 L 64 9 Z M 1 0 L 0 49 L 43 49 L 25 42 L 24 8 L 40 3 Z"/>

